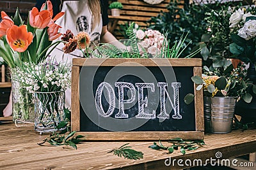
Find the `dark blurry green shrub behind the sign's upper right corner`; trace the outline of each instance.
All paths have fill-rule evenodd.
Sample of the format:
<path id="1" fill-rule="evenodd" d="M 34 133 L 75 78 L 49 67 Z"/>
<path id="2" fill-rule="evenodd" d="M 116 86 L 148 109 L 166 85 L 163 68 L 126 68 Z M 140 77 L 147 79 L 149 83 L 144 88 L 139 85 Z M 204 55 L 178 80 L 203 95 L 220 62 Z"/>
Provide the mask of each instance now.
<path id="1" fill-rule="evenodd" d="M 161 11 L 157 17 L 151 17 L 148 20 L 148 29 L 156 29 L 160 32 L 167 32 L 170 39 L 170 46 L 175 45 L 182 34 L 188 34 L 183 46 L 188 45 L 181 57 L 189 55 L 198 49 L 198 43 L 201 41 L 202 34 L 205 33 L 207 22 L 202 20 L 205 17 L 205 6 L 199 6 L 194 3 L 185 4 L 184 8 L 179 7 L 179 2 L 170 2 L 167 6 L 167 12 Z M 196 55 L 200 57 L 200 55 Z"/>

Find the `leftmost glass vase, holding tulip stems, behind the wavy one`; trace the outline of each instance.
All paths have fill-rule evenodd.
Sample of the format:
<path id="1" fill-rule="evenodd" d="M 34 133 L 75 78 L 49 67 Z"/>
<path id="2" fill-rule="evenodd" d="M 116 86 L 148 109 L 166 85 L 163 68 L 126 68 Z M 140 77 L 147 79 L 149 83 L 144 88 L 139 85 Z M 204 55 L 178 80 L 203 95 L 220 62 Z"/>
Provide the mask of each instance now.
<path id="1" fill-rule="evenodd" d="M 12 80 L 12 114 L 13 122 L 35 122 L 33 94 L 29 93 L 22 83 L 18 68 L 10 69 Z M 20 122 L 19 121 L 19 122 Z"/>

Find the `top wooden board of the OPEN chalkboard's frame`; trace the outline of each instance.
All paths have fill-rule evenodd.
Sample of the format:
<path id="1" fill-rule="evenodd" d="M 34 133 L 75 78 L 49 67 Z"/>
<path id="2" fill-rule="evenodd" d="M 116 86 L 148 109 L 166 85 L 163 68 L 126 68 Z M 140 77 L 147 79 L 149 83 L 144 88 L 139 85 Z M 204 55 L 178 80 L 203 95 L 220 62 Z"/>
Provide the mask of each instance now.
<path id="1" fill-rule="evenodd" d="M 72 60 L 73 66 L 194 66 L 201 67 L 202 59 L 84 59 Z"/>

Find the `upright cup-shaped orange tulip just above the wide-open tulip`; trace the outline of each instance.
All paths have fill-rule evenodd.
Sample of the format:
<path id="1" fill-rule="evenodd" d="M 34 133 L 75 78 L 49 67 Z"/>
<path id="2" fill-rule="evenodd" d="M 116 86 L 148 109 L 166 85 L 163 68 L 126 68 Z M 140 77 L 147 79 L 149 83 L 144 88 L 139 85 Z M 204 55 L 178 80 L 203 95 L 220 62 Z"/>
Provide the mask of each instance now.
<path id="1" fill-rule="evenodd" d="M 39 12 L 37 8 L 33 7 L 32 10 L 29 11 L 29 24 L 38 29 L 44 29 L 47 27 L 51 18 L 51 12 L 48 10 Z"/>

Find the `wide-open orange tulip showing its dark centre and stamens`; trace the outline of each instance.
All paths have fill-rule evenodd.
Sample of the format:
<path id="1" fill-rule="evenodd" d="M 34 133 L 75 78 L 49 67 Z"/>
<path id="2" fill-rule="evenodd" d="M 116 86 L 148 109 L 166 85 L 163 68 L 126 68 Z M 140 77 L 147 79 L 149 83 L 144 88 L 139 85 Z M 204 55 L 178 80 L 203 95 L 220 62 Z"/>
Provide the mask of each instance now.
<path id="1" fill-rule="evenodd" d="M 6 31 L 6 40 L 8 44 L 16 52 L 24 52 L 27 50 L 28 46 L 31 44 L 33 39 L 32 32 L 28 32 L 26 25 L 12 25 Z"/>

